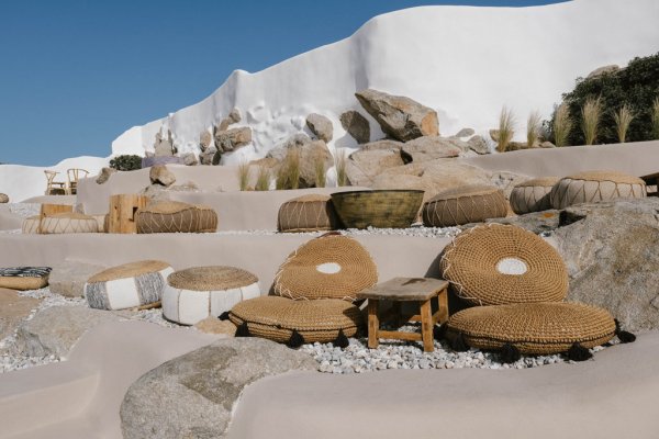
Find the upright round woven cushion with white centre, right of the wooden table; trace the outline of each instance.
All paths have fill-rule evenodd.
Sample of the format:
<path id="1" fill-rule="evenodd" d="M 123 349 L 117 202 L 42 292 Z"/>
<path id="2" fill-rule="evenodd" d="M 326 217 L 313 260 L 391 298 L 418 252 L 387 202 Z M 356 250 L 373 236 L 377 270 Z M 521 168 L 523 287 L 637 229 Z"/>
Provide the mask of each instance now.
<path id="1" fill-rule="evenodd" d="M 490 224 L 459 234 L 442 255 L 444 279 L 473 305 L 560 302 L 568 271 L 543 238 L 521 227 Z"/>

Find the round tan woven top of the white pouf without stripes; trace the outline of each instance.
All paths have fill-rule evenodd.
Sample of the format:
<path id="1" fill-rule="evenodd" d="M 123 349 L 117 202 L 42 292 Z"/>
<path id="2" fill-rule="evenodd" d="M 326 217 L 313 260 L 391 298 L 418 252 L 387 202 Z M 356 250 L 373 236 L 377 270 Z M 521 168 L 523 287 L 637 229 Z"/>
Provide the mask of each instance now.
<path id="1" fill-rule="evenodd" d="M 235 267 L 192 267 L 176 271 L 167 278 L 170 286 L 192 291 L 221 291 L 252 285 L 258 278 Z"/>

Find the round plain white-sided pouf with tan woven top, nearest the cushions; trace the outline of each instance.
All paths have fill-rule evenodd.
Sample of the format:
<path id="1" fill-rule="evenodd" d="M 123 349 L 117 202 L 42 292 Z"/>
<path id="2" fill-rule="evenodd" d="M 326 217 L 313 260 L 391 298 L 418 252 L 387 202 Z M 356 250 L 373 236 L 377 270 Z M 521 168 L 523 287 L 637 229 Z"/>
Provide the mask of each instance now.
<path id="1" fill-rule="evenodd" d="M 260 296 L 258 278 L 235 267 L 194 267 L 171 273 L 163 295 L 163 314 L 182 325 L 217 317 L 235 304 Z"/>

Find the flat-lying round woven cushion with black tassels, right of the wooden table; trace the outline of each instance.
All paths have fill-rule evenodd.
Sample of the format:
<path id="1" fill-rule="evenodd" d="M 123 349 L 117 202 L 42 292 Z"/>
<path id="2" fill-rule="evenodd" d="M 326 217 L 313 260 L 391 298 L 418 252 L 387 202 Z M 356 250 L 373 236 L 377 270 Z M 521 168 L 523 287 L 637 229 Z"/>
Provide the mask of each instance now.
<path id="1" fill-rule="evenodd" d="M 474 306 L 448 319 L 447 337 L 459 334 L 472 348 L 500 349 L 510 344 L 526 354 L 565 352 L 573 344 L 593 348 L 615 335 L 606 309 L 581 303 L 528 303 Z"/>

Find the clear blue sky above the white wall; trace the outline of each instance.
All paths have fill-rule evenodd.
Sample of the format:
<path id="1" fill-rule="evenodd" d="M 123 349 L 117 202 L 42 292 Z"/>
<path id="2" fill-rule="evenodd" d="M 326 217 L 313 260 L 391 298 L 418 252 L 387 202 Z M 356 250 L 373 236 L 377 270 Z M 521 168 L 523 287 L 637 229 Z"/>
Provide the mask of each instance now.
<path id="1" fill-rule="evenodd" d="M 107 157 L 134 125 L 351 35 L 381 13 L 427 4 L 550 0 L 0 0 L 0 162 Z"/>

